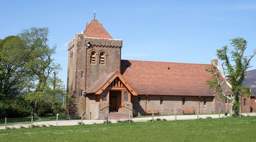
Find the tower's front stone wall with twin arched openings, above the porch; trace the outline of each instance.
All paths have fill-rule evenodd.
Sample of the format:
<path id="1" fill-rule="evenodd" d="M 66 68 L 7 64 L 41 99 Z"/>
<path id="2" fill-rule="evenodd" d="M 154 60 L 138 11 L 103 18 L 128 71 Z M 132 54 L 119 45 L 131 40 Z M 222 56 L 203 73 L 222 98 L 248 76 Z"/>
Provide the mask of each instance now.
<path id="1" fill-rule="evenodd" d="M 90 89 L 105 73 L 120 71 L 121 40 L 85 38 L 84 43 L 91 43 L 87 49 L 87 90 Z M 91 64 L 91 52 L 96 52 L 96 63 Z M 100 53 L 105 53 L 105 64 L 99 63 Z"/>

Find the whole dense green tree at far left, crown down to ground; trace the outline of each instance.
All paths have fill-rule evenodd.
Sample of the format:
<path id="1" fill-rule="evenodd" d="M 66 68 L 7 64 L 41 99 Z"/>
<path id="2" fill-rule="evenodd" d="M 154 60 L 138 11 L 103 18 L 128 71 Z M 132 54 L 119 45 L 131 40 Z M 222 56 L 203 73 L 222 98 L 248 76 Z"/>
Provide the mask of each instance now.
<path id="1" fill-rule="evenodd" d="M 26 42 L 18 36 L 0 39 L 0 118 L 27 117 L 27 101 L 20 97 L 25 88 L 28 52 Z"/>

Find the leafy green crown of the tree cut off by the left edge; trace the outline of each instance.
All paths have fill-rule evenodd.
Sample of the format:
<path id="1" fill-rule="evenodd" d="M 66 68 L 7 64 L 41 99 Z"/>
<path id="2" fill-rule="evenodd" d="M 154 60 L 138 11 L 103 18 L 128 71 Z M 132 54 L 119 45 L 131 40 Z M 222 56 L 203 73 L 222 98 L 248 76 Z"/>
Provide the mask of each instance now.
<path id="1" fill-rule="evenodd" d="M 12 98 L 25 87 L 26 42 L 18 36 L 9 36 L 0 40 L 0 49 L 0 94 Z"/>

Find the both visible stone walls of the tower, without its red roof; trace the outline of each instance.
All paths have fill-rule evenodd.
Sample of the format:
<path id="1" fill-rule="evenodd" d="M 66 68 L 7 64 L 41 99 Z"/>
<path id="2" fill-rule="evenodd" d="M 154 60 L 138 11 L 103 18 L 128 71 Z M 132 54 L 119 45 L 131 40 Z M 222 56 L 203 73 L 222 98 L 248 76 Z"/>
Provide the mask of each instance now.
<path id="1" fill-rule="evenodd" d="M 88 43 L 90 43 L 90 47 L 87 46 Z M 95 106 L 92 99 L 84 98 L 81 91 L 86 92 L 86 89 L 91 88 L 105 73 L 120 71 L 121 47 L 122 40 L 88 38 L 83 34 L 76 34 L 74 39 L 70 41 L 68 44 L 67 89 L 74 98 L 74 103 L 69 103 L 67 113 L 82 115 L 86 109 L 85 118 L 95 118 L 95 112 L 91 112 L 91 109 L 95 108 L 91 107 L 98 106 Z M 90 64 L 91 51 L 96 52 L 95 65 Z M 105 52 L 105 64 L 99 65 L 99 54 L 102 51 Z M 83 77 L 81 76 L 82 72 L 84 73 Z"/>

